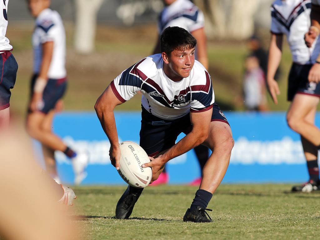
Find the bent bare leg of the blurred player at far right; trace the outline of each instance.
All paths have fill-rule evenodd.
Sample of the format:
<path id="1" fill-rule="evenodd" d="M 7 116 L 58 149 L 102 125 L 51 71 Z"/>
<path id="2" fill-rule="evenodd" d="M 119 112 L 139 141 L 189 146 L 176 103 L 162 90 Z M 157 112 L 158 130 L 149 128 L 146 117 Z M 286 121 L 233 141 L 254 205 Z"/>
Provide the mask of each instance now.
<path id="1" fill-rule="evenodd" d="M 319 97 L 297 93 L 287 113 L 289 127 L 315 146 L 320 145 L 320 130 L 306 117 L 318 103 Z"/>

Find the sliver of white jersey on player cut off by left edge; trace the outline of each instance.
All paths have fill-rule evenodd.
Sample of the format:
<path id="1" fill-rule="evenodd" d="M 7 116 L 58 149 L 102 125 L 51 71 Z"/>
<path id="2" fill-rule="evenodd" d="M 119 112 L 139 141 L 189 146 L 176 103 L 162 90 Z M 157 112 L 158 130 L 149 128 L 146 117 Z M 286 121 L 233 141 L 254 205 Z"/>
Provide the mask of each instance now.
<path id="1" fill-rule="evenodd" d="M 11 51 L 12 46 L 9 44 L 9 39 L 5 36 L 8 27 L 8 3 L 9 0 L 0 1 L 0 9 L 2 10 L 2 16 L 0 19 L 0 53 L 3 51 Z"/>

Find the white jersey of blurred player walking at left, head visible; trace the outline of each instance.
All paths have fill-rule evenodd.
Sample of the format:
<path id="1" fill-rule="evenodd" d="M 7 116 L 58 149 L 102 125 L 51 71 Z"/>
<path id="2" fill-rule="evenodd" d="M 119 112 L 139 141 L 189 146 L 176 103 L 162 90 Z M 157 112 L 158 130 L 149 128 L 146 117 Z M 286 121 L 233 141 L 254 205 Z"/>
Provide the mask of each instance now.
<path id="1" fill-rule="evenodd" d="M 65 30 L 59 13 L 49 8 L 44 9 L 36 18 L 36 26 L 32 36 L 34 53 L 33 71 L 36 74 L 40 72 L 42 44 L 46 42 L 54 42 L 48 78 L 60 79 L 66 77 Z"/>

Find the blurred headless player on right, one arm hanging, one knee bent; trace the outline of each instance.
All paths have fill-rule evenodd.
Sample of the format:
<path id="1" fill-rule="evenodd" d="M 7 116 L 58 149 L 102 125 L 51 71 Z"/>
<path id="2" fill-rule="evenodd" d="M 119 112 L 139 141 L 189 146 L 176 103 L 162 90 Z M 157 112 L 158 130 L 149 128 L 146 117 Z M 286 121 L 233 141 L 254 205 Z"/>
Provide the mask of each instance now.
<path id="1" fill-rule="evenodd" d="M 292 103 L 287 113 L 287 122 L 289 127 L 301 136 L 309 172 L 309 181 L 293 187 L 292 191 L 303 192 L 316 190 L 319 185 L 320 131 L 314 125 L 314 121 L 319 103 L 320 85 L 314 82 L 309 83 L 308 73 L 316 62 L 320 45 L 308 48 L 304 42 L 304 35 L 310 27 L 310 8 L 310 0 L 277 0 L 271 6 L 271 42 L 267 77 L 271 96 L 277 104 L 276 95 L 280 94 L 280 91 L 274 76 L 281 60 L 282 40 L 285 34 L 293 60 L 287 95 Z"/>

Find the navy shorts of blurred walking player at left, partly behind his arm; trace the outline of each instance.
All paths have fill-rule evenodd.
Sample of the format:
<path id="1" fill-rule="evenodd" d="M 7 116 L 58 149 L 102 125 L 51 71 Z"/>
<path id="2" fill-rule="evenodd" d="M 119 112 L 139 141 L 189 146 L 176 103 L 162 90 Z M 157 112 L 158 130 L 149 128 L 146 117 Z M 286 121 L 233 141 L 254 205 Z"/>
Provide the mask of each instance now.
<path id="1" fill-rule="evenodd" d="M 36 83 L 38 75 L 34 74 L 31 79 L 31 96 L 33 95 L 33 88 Z M 48 83 L 44 88 L 43 91 L 43 108 L 39 109 L 40 112 L 47 114 L 50 112 L 50 110 L 54 109 L 56 106 L 56 103 L 59 99 L 62 98 L 63 94 L 65 93 L 67 89 L 67 79 L 66 78 L 60 78 L 60 79 L 48 79 Z M 30 113 L 31 110 L 28 109 L 28 112 Z"/>

